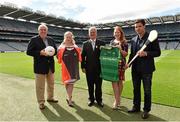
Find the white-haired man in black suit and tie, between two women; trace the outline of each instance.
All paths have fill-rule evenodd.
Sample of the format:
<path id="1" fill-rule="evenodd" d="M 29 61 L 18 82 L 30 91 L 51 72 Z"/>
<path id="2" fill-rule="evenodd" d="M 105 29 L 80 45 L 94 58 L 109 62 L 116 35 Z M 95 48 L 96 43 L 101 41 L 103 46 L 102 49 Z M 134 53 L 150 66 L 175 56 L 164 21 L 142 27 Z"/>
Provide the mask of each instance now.
<path id="1" fill-rule="evenodd" d="M 96 27 L 89 28 L 90 39 L 83 43 L 82 49 L 82 62 L 81 68 L 86 73 L 89 102 L 88 106 L 94 104 L 96 100 L 100 107 L 103 107 L 102 102 L 102 78 L 100 77 L 101 65 L 100 65 L 100 46 L 104 45 L 104 42 L 97 40 L 97 29 Z M 94 97 L 94 86 L 95 86 L 95 97 Z"/>

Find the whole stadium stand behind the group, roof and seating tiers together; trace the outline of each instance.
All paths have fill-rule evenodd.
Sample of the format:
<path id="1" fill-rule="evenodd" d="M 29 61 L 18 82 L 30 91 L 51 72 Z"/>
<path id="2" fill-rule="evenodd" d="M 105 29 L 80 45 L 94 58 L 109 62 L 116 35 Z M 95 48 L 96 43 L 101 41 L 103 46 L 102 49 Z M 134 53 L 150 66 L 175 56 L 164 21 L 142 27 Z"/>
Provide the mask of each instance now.
<path id="1" fill-rule="evenodd" d="M 159 32 L 160 47 L 180 49 L 180 14 L 146 18 L 146 29 Z M 37 35 L 40 23 L 48 25 L 48 34 L 57 46 L 62 42 L 66 31 L 73 32 L 76 43 L 81 45 L 88 39 L 88 28 L 98 28 L 98 38 L 109 43 L 113 39 L 113 27 L 119 25 L 129 41 L 134 35 L 135 20 L 105 24 L 87 24 L 66 20 L 63 17 L 46 15 L 42 11 L 33 12 L 30 8 L 17 8 L 14 4 L 0 4 L 0 51 L 25 51 L 32 36 Z"/>

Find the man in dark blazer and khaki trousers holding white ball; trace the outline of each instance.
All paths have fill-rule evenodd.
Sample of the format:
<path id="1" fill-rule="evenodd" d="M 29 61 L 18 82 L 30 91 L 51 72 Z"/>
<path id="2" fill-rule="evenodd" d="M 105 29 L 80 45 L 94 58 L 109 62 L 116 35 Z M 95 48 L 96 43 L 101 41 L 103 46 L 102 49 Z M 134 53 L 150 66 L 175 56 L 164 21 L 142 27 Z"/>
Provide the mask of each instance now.
<path id="1" fill-rule="evenodd" d="M 52 46 L 57 53 L 55 42 L 52 38 L 47 36 L 48 28 L 45 24 L 38 27 L 39 35 L 32 37 L 27 48 L 27 55 L 33 57 L 34 60 L 34 73 L 36 81 L 36 96 L 39 103 L 39 108 L 45 108 L 45 79 L 47 81 L 47 101 L 57 103 L 54 99 L 54 58 L 48 56 L 45 52 L 47 46 Z"/>

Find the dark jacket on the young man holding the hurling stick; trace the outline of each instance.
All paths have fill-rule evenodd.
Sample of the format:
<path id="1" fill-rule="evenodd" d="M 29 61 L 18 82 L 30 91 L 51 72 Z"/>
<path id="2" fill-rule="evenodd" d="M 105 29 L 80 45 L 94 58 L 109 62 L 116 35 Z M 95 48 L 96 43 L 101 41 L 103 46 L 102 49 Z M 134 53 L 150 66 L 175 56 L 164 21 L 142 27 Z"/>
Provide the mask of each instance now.
<path id="1" fill-rule="evenodd" d="M 145 33 L 144 37 L 142 38 L 144 40 L 143 43 L 146 42 L 148 39 L 149 33 Z M 129 61 L 136 55 L 137 53 L 137 40 L 138 36 L 135 36 L 131 39 L 131 53 L 129 56 Z M 145 50 L 147 52 L 146 57 L 137 57 L 134 62 L 132 63 L 132 72 L 140 71 L 142 73 L 152 73 L 155 71 L 155 65 L 154 65 L 154 57 L 158 57 L 161 55 L 161 50 L 159 47 L 158 39 L 151 42 Z M 137 61 L 138 60 L 138 61 Z M 138 68 L 138 69 L 137 69 Z"/>

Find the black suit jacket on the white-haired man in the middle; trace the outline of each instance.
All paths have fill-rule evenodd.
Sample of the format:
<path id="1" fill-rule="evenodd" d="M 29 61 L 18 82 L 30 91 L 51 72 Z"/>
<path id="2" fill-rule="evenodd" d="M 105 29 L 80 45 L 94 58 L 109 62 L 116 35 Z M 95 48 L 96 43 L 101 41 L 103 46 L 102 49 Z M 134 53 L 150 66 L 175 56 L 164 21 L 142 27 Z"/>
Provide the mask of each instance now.
<path id="1" fill-rule="evenodd" d="M 99 57 L 100 46 L 102 45 L 105 45 L 105 43 L 96 40 L 95 50 L 93 50 L 90 40 L 83 43 L 81 68 L 85 68 L 87 73 L 97 73 L 97 75 L 100 75 L 101 65 Z"/>

